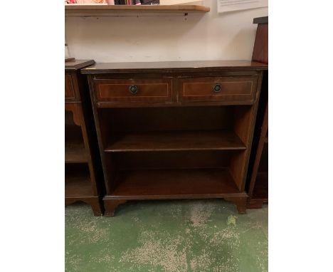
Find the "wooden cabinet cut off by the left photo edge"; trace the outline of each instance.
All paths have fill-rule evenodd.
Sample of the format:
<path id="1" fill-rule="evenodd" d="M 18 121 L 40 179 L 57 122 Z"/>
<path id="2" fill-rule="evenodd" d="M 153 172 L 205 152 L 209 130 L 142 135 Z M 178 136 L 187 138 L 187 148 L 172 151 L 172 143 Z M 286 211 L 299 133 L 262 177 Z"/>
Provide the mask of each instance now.
<path id="1" fill-rule="evenodd" d="M 80 74 L 80 68 L 93 63 L 65 63 L 65 204 L 85 202 L 90 204 L 95 216 L 100 216 L 102 169 L 88 80 Z"/>

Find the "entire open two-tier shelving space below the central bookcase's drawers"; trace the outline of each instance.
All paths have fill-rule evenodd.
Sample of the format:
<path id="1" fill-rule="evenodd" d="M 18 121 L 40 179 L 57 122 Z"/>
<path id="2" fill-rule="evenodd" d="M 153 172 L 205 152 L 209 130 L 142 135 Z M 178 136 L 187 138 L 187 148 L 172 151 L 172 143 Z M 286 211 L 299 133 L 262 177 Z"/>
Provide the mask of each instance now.
<path id="1" fill-rule="evenodd" d="M 107 199 L 244 196 L 252 105 L 97 112 Z"/>

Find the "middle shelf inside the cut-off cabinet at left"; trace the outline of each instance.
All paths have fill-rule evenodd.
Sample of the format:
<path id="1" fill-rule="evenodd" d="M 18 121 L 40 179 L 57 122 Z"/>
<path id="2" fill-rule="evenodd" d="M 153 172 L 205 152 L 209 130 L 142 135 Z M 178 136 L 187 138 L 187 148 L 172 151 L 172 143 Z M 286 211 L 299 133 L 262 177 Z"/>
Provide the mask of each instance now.
<path id="1" fill-rule="evenodd" d="M 85 145 L 82 141 L 65 141 L 65 163 L 88 162 Z"/>

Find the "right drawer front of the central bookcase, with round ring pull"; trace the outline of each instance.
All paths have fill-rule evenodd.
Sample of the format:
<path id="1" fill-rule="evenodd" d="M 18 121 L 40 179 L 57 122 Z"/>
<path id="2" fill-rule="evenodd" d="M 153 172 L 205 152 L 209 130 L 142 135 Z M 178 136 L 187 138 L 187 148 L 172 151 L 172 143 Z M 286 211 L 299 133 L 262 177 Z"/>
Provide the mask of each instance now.
<path id="1" fill-rule="evenodd" d="M 250 101 L 255 99 L 256 77 L 191 78 L 180 84 L 179 99 L 195 101 Z"/>

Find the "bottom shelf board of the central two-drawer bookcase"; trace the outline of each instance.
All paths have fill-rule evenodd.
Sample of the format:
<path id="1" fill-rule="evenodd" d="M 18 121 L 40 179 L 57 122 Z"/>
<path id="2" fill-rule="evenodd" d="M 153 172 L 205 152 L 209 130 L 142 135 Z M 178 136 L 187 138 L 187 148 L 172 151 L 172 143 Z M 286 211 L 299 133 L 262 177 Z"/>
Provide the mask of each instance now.
<path id="1" fill-rule="evenodd" d="M 227 168 L 125 171 L 120 172 L 117 184 L 107 198 L 181 199 L 242 194 Z"/>

